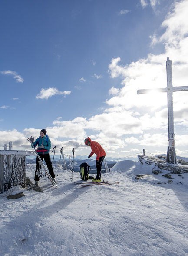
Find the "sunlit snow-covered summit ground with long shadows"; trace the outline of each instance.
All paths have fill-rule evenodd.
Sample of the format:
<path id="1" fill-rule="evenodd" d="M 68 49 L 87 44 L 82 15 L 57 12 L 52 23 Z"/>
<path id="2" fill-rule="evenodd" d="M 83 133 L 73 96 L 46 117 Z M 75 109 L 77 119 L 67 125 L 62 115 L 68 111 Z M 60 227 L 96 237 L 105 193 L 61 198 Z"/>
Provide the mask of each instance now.
<path id="1" fill-rule="evenodd" d="M 32 182 L 34 169 L 26 165 Z M 43 193 L 17 186 L 0 194 L 0 256 L 188 255 L 188 174 L 168 183 L 152 166 L 125 160 L 102 175 L 116 185 L 84 188 L 70 178 L 61 169 L 58 189 L 42 178 Z"/>

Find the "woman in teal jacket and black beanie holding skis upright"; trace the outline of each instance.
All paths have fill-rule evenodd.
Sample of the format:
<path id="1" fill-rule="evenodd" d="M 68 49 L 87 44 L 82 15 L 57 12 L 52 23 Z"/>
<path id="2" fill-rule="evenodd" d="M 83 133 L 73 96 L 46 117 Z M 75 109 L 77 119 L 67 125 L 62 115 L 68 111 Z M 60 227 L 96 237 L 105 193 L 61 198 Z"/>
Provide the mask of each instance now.
<path id="1" fill-rule="evenodd" d="M 48 135 L 46 134 L 47 131 L 45 129 L 42 129 L 40 131 L 40 137 L 36 139 L 36 141 L 34 142 L 34 138 L 30 138 L 30 140 L 33 142 L 34 147 L 36 147 L 38 145 L 38 148 L 36 149 L 37 153 L 39 154 L 41 160 L 45 161 L 47 168 L 49 170 L 49 174 L 51 175 L 52 179 L 54 180 L 54 182 L 56 182 L 55 179 L 55 174 L 53 172 L 53 167 L 52 167 L 52 161 L 50 158 L 50 154 L 49 154 L 49 150 L 51 148 L 51 141 L 48 137 Z M 31 146 L 33 148 L 33 146 Z M 36 170 L 35 170 L 35 185 L 39 185 L 39 158 L 38 155 L 36 156 Z"/>

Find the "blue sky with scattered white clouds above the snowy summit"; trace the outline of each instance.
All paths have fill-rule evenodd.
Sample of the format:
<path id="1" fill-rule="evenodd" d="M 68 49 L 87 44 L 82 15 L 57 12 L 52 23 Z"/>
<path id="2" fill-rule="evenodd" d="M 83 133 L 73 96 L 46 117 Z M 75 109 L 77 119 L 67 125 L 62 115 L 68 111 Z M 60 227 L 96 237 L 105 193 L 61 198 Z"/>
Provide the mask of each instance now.
<path id="1" fill-rule="evenodd" d="M 0 3 L 0 137 L 26 148 L 46 128 L 52 145 L 110 157 L 168 146 L 167 96 L 188 85 L 187 0 L 3 0 Z M 187 92 L 174 93 L 177 153 L 186 156 Z M 184 114 L 184 115 L 183 115 Z M 3 148 L 2 148 L 3 149 Z"/>

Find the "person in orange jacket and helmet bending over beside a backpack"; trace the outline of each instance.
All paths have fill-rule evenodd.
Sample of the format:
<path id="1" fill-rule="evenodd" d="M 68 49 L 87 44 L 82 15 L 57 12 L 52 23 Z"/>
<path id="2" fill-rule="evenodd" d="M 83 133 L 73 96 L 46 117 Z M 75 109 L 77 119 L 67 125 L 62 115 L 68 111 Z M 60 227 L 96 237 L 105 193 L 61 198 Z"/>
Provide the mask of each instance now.
<path id="1" fill-rule="evenodd" d="M 101 145 L 96 142 L 92 141 L 89 137 L 87 137 L 84 140 L 85 145 L 91 147 L 91 153 L 89 154 L 88 158 L 90 158 L 94 153 L 97 155 L 96 156 L 96 169 L 97 169 L 97 175 L 96 178 L 93 179 L 93 182 L 100 182 L 101 181 L 101 167 L 102 167 L 102 162 L 106 156 L 106 152 L 104 149 L 101 147 Z"/>

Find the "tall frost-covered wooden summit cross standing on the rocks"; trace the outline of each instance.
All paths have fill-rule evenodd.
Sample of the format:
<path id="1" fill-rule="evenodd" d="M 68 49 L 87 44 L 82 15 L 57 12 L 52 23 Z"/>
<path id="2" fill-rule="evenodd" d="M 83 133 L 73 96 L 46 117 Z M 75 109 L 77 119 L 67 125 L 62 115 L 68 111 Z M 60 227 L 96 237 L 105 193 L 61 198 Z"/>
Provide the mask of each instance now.
<path id="1" fill-rule="evenodd" d="M 172 61 L 169 57 L 166 61 L 166 73 L 167 73 L 167 87 L 158 88 L 160 92 L 167 92 L 168 98 L 168 150 L 167 150 L 167 162 L 169 164 L 177 164 L 177 158 L 175 153 L 175 134 L 174 134 L 174 113 L 173 113 L 173 91 L 188 91 L 188 86 L 172 86 Z M 151 92 L 153 89 L 138 90 L 137 94 L 144 94 Z"/>

